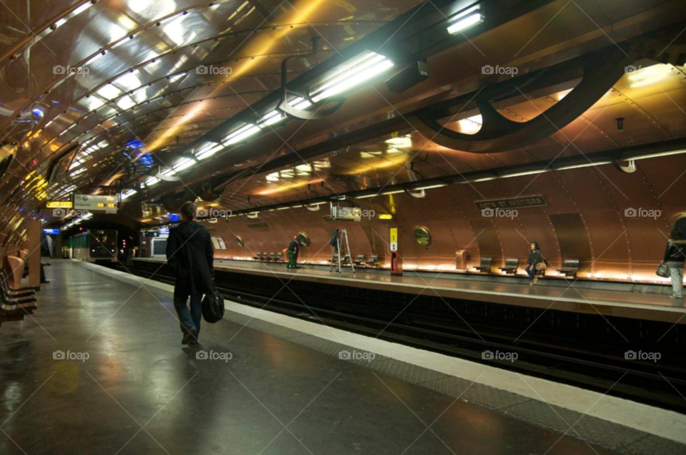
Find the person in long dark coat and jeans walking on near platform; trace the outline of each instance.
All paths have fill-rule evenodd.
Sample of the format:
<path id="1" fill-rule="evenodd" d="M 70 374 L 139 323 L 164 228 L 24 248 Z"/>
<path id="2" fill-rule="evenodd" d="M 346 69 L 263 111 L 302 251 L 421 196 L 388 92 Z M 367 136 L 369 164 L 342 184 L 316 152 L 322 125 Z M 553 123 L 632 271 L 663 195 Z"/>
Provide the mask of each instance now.
<path id="1" fill-rule="evenodd" d="M 179 315 L 182 344 L 198 342 L 202 319 L 202 295 L 214 290 L 214 248 L 206 227 L 195 219 L 197 206 L 184 203 L 183 222 L 169 230 L 166 262 L 174 270 L 174 308 Z M 190 297 L 190 311 L 187 305 Z"/>

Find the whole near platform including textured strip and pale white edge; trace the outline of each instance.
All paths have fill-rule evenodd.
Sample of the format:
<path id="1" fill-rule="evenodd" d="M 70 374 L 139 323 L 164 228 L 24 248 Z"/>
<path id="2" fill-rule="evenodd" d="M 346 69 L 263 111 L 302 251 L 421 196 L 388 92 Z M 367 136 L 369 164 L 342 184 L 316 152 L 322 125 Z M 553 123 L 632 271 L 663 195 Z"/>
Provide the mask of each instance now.
<path id="1" fill-rule="evenodd" d="M 70 260 L 46 274 L 40 311 L 0 327 L 2 454 L 686 449 L 683 414 L 235 302 L 184 347 L 171 286 Z"/>

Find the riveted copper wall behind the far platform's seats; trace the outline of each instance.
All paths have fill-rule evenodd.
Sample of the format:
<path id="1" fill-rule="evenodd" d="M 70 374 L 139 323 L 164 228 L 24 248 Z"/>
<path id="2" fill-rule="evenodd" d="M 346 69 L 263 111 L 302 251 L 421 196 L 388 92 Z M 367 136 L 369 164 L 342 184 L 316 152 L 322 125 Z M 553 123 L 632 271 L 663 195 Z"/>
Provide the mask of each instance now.
<path id="1" fill-rule="evenodd" d="M 686 213 L 684 181 L 686 156 L 637 161 L 635 173 L 622 173 L 612 165 L 580 168 L 540 175 L 492 180 L 472 185 L 451 185 L 427 190 L 419 199 L 406 194 L 359 200 L 362 209 L 377 217 L 361 223 L 329 223 L 327 205 L 317 212 L 298 208 L 260 213 L 259 218 L 231 218 L 207 225 L 224 238 L 227 250 L 217 257 L 253 257 L 257 252 L 279 252 L 292 235 L 307 232 L 311 245 L 302 249 L 308 262 L 325 262 L 331 255 L 329 238 L 334 228 L 346 228 L 353 255 L 378 254 L 388 259 L 389 228 L 400 230 L 399 254 L 406 268 L 454 270 L 457 250 L 467 249 L 470 267 L 482 256 L 493 257 L 499 267 L 504 257 L 519 257 L 520 273 L 528 242 L 539 242 L 550 262 L 548 274 L 565 259 L 580 259 L 580 276 L 607 279 L 659 280 L 657 262 L 676 218 Z M 547 207 L 520 208 L 514 218 L 484 218 L 474 201 L 525 195 L 544 195 Z M 627 216 L 627 210 L 660 210 L 655 218 Z M 392 213 L 392 220 L 379 220 Z M 266 223 L 267 227 L 249 228 Z M 412 231 L 425 226 L 432 242 L 424 247 Z M 235 236 L 245 243 L 239 247 Z M 409 267 L 408 267 L 409 266 Z"/>

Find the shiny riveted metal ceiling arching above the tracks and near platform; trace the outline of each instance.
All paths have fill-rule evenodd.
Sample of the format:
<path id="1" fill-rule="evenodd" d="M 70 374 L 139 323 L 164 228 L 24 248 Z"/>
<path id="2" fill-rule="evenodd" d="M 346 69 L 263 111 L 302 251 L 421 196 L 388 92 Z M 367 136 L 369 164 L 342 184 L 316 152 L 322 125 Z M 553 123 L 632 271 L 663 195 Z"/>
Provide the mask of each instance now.
<path id="1" fill-rule="evenodd" d="M 613 1 L 485 1 L 491 14 L 484 24 L 447 34 L 446 16 L 472 3 L 5 1 L 4 235 L 45 200 L 75 190 L 136 190 L 124 214 L 155 225 L 170 220 L 160 204 L 171 208 L 184 198 L 249 210 L 684 138 L 680 2 L 622 1 L 618 8 Z M 145 184 L 158 169 L 197 155 L 232 122 L 271 110 L 284 58 L 304 56 L 289 61 L 286 80 L 307 85 L 363 50 L 398 63 L 347 93 L 337 111 L 264 128 L 198 160 L 178 173 L 180 180 Z M 517 123 L 545 116 L 565 102 L 580 73 L 564 68 L 555 83 L 537 85 L 537 72 L 600 52 L 644 71 L 622 72 L 589 108 L 535 143 L 470 153 L 417 131 L 413 113 L 512 83 L 509 74 L 484 74 L 485 65 L 535 76 L 517 79 L 516 91 L 503 89 L 491 103 L 499 115 Z M 427 58 L 429 78 L 403 93 L 389 91 L 384 80 L 418 57 Z M 450 131 L 478 133 L 479 108 L 456 106 L 437 121 Z M 625 119 L 624 133 L 617 118 Z M 337 138 L 350 136 L 337 146 Z M 56 221 L 47 210 L 37 213 Z"/>

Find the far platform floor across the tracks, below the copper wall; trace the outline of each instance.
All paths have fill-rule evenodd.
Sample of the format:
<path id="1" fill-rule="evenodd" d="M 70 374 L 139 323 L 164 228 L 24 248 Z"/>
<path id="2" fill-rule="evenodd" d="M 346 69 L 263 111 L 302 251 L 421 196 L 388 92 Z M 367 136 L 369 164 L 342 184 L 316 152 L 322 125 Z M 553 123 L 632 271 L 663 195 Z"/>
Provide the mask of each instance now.
<path id="1" fill-rule="evenodd" d="M 158 259 L 136 259 L 162 263 Z M 342 273 L 329 272 L 315 268 L 287 270 L 278 262 L 215 262 L 215 267 L 229 272 L 252 273 L 273 277 L 287 277 L 294 280 L 329 282 L 353 287 L 369 287 L 412 294 L 440 295 L 458 299 L 481 302 L 502 303 L 525 307 L 551 308 L 552 310 L 587 312 L 647 319 L 672 324 L 686 324 L 686 303 L 672 299 L 670 295 L 632 292 L 635 285 L 614 283 L 612 290 L 587 289 L 575 286 L 574 280 L 557 282 L 541 278 L 537 285 L 529 286 L 526 280 L 509 284 L 495 281 L 467 280 L 448 277 L 439 272 L 422 275 L 406 271 L 400 277 L 392 277 L 388 272 L 356 269 L 353 273 L 347 267 Z M 481 277 L 480 277 L 481 278 Z M 624 289 L 624 291 L 618 290 Z"/>

